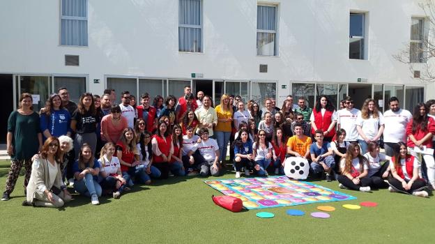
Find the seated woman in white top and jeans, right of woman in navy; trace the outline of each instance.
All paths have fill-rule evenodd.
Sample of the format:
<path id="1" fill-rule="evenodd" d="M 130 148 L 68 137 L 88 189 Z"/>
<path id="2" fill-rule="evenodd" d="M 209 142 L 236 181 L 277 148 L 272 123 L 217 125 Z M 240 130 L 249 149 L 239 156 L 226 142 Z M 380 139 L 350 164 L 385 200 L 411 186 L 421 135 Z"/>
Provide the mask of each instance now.
<path id="1" fill-rule="evenodd" d="M 257 170 L 259 176 L 267 176 L 267 167 L 270 165 L 272 158 L 272 144 L 266 140 L 266 131 L 259 130 L 259 137 L 252 145 L 253 155 L 255 160 L 254 169 Z"/>

